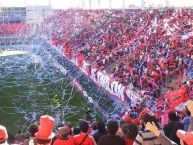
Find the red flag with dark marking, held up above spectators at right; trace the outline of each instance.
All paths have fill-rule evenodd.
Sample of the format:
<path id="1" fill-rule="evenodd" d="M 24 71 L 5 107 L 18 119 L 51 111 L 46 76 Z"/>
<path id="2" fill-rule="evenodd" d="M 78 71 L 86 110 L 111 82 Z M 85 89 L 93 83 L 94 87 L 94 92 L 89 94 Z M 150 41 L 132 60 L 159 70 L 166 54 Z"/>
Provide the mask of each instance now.
<path id="1" fill-rule="evenodd" d="M 178 90 L 171 91 L 166 94 L 166 97 L 168 98 L 169 102 L 171 103 L 171 106 L 175 108 L 180 103 L 185 102 L 185 95 L 187 92 L 187 87 L 181 87 Z"/>

